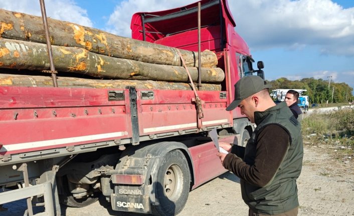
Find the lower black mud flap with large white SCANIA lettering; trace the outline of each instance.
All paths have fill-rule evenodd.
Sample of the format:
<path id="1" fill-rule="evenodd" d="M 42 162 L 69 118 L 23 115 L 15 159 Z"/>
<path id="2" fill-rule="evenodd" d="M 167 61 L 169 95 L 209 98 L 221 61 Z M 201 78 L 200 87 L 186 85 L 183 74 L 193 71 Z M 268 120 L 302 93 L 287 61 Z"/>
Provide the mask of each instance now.
<path id="1" fill-rule="evenodd" d="M 148 195 L 111 194 L 112 209 L 116 211 L 130 211 L 151 213 Z"/>

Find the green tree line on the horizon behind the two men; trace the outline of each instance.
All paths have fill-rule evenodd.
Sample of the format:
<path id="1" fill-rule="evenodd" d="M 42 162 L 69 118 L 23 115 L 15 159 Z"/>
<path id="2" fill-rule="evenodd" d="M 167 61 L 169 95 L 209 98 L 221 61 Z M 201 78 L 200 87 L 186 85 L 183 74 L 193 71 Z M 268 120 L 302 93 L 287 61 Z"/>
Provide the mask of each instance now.
<path id="1" fill-rule="evenodd" d="M 268 81 L 272 89 L 306 89 L 302 95 L 308 95 L 310 103 L 347 103 L 354 100 L 353 88 L 346 83 L 329 82 L 328 80 L 303 78 L 301 80 L 288 80 L 279 78 Z"/>

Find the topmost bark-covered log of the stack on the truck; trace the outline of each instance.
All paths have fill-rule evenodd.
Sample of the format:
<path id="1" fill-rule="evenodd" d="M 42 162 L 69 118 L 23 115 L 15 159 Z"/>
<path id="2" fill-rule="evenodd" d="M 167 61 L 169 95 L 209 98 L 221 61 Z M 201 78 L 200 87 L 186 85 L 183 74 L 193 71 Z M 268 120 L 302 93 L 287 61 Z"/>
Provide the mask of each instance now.
<path id="1" fill-rule="evenodd" d="M 94 28 L 48 18 L 51 44 L 85 48 L 106 56 L 141 62 L 182 66 L 176 48 L 116 36 Z M 46 43 L 42 18 L 0 9 L 0 37 L 14 40 Z M 198 52 L 181 50 L 188 67 L 198 66 Z M 215 53 L 201 54 L 202 67 L 218 64 Z"/>

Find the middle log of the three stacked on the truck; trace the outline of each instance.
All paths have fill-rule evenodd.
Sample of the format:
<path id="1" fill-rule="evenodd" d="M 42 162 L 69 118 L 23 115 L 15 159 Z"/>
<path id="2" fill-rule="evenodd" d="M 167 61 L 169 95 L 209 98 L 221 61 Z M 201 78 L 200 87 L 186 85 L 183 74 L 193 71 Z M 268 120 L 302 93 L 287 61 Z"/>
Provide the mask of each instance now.
<path id="1" fill-rule="evenodd" d="M 157 65 L 91 53 L 83 48 L 52 46 L 57 71 L 72 72 L 109 79 L 136 79 L 189 82 L 184 67 Z M 11 69 L 49 70 L 45 44 L 0 38 L 0 67 Z M 189 68 L 193 81 L 198 69 Z M 220 83 L 225 74 L 220 68 L 202 68 L 204 83 Z"/>

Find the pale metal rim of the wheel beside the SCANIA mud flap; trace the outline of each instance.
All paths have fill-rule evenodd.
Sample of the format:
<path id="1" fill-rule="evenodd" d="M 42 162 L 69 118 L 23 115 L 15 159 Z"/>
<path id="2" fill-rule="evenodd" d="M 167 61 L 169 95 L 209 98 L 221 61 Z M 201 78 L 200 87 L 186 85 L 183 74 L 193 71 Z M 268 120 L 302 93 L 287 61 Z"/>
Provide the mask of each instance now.
<path id="1" fill-rule="evenodd" d="M 183 172 L 179 165 L 172 164 L 166 170 L 164 176 L 164 193 L 166 196 L 173 200 L 177 198 L 183 186 Z"/>

